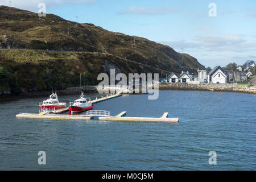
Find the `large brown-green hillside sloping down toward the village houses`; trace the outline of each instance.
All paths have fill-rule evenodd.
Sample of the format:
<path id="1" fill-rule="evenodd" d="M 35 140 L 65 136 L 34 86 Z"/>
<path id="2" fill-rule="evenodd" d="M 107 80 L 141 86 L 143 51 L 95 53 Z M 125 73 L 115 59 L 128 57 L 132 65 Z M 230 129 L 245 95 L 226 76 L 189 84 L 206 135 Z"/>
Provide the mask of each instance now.
<path id="1" fill-rule="evenodd" d="M 54 74 L 59 79 L 63 76 L 63 83 L 56 84 L 60 87 L 77 84 L 77 80 L 72 80 L 77 78 L 70 78 L 68 81 L 69 75 L 66 74 L 69 69 L 75 69 L 72 68 L 73 65 L 78 67 L 74 71 L 75 75 L 82 72 L 85 77 L 92 76 L 87 83 L 95 83 L 96 75 L 106 72 L 105 60 L 113 63 L 113 68 L 125 73 L 151 72 L 165 75 L 170 72 L 179 73 L 204 68 L 195 57 L 175 52 L 171 47 L 139 37 L 135 37 L 134 46 L 134 36 L 107 31 L 93 24 L 79 23 L 76 26 L 76 22 L 53 14 L 39 18 L 36 13 L 15 8 L 12 8 L 10 13 L 9 7 L 6 6 L 0 6 L 0 14 L 0 68 L 4 70 L 2 72 L 16 74 L 19 90 L 34 88 L 32 80 L 24 80 L 30 75 L 20 70 L 22 67 L 27 68 L 28 65 L 31 65 L 36 73 L 44 75 L 49 74 L 44 65 L 47 65 L 48 69 L 59 70 Z M 102 46 L 105 53 L 101 53 Z M 59 63 L 60 60 L 65 64 Z M 42 66 L 42 69 L 39 69 L 38 65 Z M 92 69 L 89 69 L 90 67 Z M 52 77 L 55 76 L 51 76 L 49 84 L 37 86 L 36 89 L 46 89 L 55 84 L 58 80 Z"/>

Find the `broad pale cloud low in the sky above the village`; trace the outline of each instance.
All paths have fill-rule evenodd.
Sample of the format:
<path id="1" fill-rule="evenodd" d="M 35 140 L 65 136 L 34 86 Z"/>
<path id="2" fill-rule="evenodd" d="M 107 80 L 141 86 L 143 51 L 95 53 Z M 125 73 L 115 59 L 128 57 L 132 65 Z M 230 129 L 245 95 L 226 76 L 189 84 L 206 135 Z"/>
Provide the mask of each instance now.
<path id="1" fill-rule="evenodd" d="M 196 57 L 205 66 L 225 66 L 230 62 L 243 64 L 248 59 L 256 57 L 255 38 L 245 39 L 244 35 L 197 36 L 193 41 L 179 40 L 160 42 L 176 51 L 188 53 Z"/>

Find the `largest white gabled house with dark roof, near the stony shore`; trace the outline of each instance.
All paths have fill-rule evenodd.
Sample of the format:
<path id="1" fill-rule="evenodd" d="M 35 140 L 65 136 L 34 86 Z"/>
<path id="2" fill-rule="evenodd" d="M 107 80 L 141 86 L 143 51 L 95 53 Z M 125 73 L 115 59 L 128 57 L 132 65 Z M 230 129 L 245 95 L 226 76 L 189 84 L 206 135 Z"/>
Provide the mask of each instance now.
<path id="1" fill-rule="evenodd" d="M 220 66 L 214 67 L 207 76 L 209 84 L 226 84 L 226 82 L 228 81 L 228 75 Z"/>

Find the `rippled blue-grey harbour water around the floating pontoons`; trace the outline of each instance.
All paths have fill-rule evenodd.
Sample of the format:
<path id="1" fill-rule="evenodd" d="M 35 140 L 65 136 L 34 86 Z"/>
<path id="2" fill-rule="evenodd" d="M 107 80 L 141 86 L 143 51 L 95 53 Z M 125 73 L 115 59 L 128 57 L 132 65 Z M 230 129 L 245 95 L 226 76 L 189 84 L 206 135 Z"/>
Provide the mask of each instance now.
<path id="1" fill-rule="evenodd" d="M 94 109 L 143 117 L 168 112 L 180 122 L 16 119 L 19 112 L 38 113 L 45 97 L 0 102 L 0 169 L 255 170 L 255 95 L 160 91 L 158 100 L 147 97 L 122 96 Z M 38 164 L 38 151 L 46 151 L 46 165 Z M 217 165 L 208 163 L 209 151 L 217 152 Z"/>

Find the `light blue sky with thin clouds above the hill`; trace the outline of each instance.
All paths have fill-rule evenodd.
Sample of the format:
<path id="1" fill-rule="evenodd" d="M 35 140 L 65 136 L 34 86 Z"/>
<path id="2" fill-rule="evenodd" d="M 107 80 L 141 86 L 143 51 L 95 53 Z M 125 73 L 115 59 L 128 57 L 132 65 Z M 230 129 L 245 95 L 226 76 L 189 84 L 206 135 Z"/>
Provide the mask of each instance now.
<path id="1" fill-rule="evenodd" d="M 35 13 L 39 3 L 47 14 L 71 21 L 78 16 L 79 23 L 168 45 L 205 67 L 256 61 L 255 0 L 11 0 L 11 6 Z"/>

